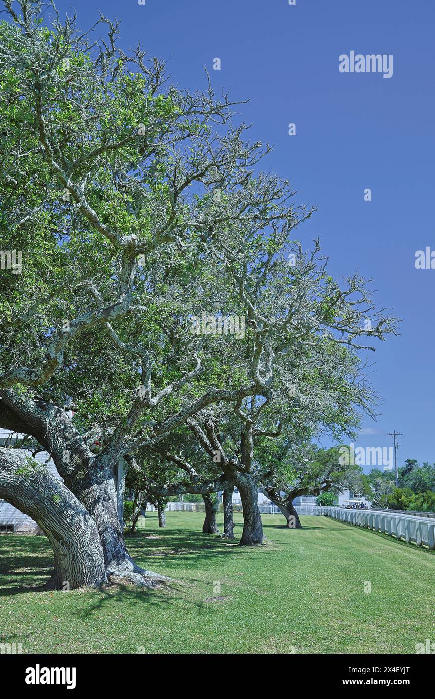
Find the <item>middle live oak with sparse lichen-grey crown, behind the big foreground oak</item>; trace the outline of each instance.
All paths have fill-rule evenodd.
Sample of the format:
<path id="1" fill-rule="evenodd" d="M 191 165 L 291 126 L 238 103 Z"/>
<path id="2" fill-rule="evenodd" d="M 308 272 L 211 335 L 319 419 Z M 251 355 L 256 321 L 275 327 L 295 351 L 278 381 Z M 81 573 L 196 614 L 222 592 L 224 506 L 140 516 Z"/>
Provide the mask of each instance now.
<path id="1" fill-rule="evenodd" d="M 240 342 L 240 353 L 256 356 L 259 342 L 267 348 L 262 366 L 267 391 L 239 396 L 228 405 L 209 405 L 186 420 L 209 457 L 204 462 L 207 470 L 219 454 L 221 477 L 214 489 L 222 488 L 223 481 L 239 489 L 244 513 L 241 543 L 248 545 L 263 540 L 259 486 L 288 521 L 296 517 L 296 522 L 292 503 L 297 495 L 342 486 L 347 474 L 333 452 L 311 454 L 298 463 L 290 459 L 290 447 L 295 459 L 294 448 L 308 438 L 325 432 L 337 440 L 353 435 L 361 411 L 374 415 L 376 396 L 360 359 L 360 352 L 372 347 L 356 338 L 383 339 L 385 333 L 395 332 L 395 319 L 375 310 L 362 278 L 353 275 L 340 286 L 327 275 L 317 245 L 312 254 L 303 254 L 295 245 L 295 266 L 289 268 L 283 241 L 278 231 L 274 233 L 258 239 L 251 231 L 233 231 L 233 244 L 243 236 L 238 256 L 228 249 L 223 252 L 246 303 L 249 332 Z M 263 246 L 269 247 L 268 254 Z M 362 322 L 368 312 L 377 318 L 370 331 Z M 165 458 L 184 463 L 189 473 L 188 456 L 185 450 L 176 454 L 176 447 L 175 442 L 166 445 Z M 204 477 L 196 466 L 191 480 L 197 484 L 201 474 Z M 178 492 L 188 488 L 189 483 L 179 483 Z"/>

